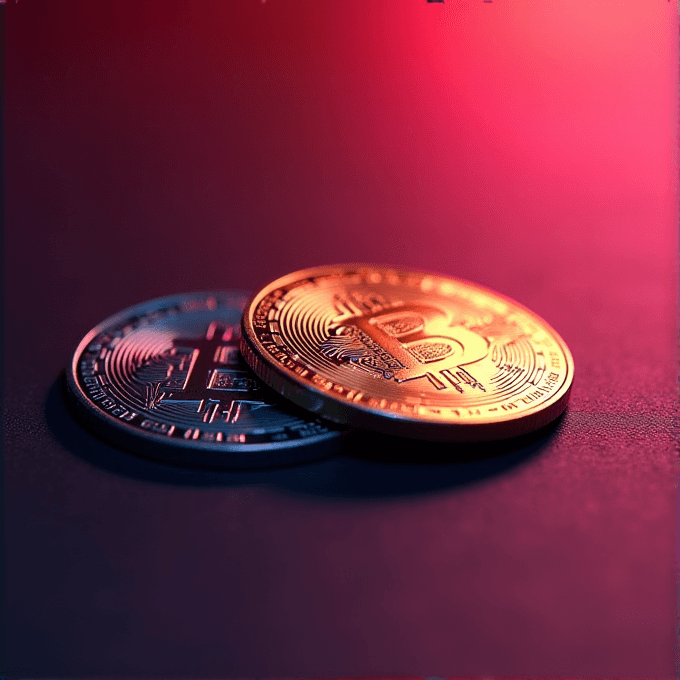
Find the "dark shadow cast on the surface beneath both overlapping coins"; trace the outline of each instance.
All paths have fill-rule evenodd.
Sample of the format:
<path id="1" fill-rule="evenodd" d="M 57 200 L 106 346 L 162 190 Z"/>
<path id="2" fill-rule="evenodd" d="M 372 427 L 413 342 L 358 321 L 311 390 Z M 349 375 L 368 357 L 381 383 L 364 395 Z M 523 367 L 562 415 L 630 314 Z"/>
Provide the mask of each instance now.
<path id="1" fill-rule="evenodd" d="M 115 475 L 171 486 L 268 486 L 296 496 L 347 501 L 429 494 L 481 483 L 539 456 L 561 421 L 530 435 L 476 444 L 429 443 L 355 430 L 345 437 L 340 453 L 311 463 L 215 470 L 166 464 L 98 438 L 69 408 L 63 373 L 48 390 L 44 406 L 47 426 L 61 446 Z"/>

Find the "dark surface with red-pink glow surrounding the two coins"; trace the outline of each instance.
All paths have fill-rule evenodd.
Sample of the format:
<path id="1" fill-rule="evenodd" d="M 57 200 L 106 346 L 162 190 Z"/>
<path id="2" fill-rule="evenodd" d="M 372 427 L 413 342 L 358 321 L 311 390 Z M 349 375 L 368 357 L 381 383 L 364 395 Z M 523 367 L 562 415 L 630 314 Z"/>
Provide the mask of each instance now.
<path id="1" fill-rule="evenodd" d="M 2 11 L 1 671 L 674 676 L 671 3 Z M 61 372 L 110 314 L 352 261 L 539 313 L 574 354 L 567 413 L 215 473 L 66 411 Z"/>

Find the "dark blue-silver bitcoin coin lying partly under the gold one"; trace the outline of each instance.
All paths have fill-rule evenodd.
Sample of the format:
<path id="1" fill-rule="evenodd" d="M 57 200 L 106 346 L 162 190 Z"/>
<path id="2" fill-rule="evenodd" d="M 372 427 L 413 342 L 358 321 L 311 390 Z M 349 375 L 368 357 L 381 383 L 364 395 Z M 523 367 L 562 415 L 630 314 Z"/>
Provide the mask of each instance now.
<path id="1" fill-rule="evenodd" d="M 78 345 L 67 385 L 113 443 L 164 461 L 247 468 L 319 458 L 341 429 L 264 385 L 239 352 L 247 295 L 190 293 L 112 316 Z"/>

